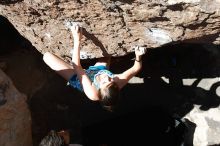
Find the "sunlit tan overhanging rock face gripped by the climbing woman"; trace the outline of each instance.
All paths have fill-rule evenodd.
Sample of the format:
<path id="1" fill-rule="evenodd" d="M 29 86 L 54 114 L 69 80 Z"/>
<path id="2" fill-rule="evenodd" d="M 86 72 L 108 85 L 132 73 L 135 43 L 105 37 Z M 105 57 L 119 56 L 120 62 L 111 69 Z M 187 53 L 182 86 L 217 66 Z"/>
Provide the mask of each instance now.
<path id="1" fill-rule="evenodd" d="M 86 29 L 82 59 L 123 56 L 134 45 L 172 42 L 220 44 L 219 0 L 3 0 L 0 13 L 39 50 L 68 60 L 68 21 Z"/>

